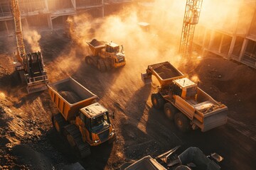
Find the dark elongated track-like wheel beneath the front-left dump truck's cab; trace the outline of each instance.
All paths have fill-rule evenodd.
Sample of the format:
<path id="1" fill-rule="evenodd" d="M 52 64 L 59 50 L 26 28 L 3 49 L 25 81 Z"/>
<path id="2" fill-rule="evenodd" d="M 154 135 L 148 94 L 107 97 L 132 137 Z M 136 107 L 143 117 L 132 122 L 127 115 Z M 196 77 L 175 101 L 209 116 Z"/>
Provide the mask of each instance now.
<path id="1" fill-rule="evenodd" d="M 90 145 L 82 141 L 82 135 L 75 125 L 66 125 L 64 135 L 78 158 L 85 158 L 91 154 Z"/>

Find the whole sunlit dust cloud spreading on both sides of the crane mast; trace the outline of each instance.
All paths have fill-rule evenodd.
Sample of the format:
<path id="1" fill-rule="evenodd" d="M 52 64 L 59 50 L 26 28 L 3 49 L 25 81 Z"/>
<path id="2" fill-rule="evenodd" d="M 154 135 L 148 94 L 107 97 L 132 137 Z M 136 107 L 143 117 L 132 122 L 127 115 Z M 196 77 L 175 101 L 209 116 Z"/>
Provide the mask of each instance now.
<path id="1" fill-rule="evenodd" d="M 228 30 L 232 28 L 238 31 L 238 20 L 246 23 L 252 16 L 252 10 L 243 2 L 244 0 L 203 1 L 199 19 L 201 27 L 196 26 L 196 33 L 202 35 L 201 28 L 205 27 Z M 171 62 L 177 68 L 192 67 L 198 64 L 198 60 L 193 61 L 178 55 L 185 6 L 185 0 L 157 0 L 126 6 L 105 18 L 92 18 L 86 14 L 74 16 L 68 18 L 72 28 L 70 34 L 75 42 L 87 49 L 86 55 L 90 52 L 86 42 L 93 38 L 124 45 L 127 57 L 125 67 L 131 67 L 127 74 L 138 75 L 144 72 L 147 65 L 165 61 Z M 247 10 L 242 14 L 241 6 L 242 10 Z M 248 16 L 250 17 L 247 18 Z M 149 27 L 140 26 L 140 22 L 149 23 Z"/>

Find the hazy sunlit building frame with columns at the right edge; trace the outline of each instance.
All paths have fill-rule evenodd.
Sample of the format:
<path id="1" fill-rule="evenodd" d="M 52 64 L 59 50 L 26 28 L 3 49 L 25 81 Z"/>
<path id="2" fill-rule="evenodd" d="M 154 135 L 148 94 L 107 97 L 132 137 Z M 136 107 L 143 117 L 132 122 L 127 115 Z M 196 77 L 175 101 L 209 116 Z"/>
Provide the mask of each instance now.
<path id="1" fill-rule="evenodd" d="M 202 31 L 203 30 L 203 31 Z M 194 35 L 194 47 L 228 60 L 235 60 L 256 68 L 256 3 L 245 0 L 238 16 L 232 11 L 215 28 L 199 25 Z"/>

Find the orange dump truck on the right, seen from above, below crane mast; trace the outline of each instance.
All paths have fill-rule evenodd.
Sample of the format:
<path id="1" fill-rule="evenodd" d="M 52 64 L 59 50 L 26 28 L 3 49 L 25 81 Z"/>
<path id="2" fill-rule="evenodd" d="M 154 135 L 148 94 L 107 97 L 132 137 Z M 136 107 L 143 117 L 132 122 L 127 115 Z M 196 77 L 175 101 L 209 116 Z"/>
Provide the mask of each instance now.
<path id="1" fill-rule="evenodd" d="M 151 83 L 152 75 L 160 86 L 156 94 L 151 94 L 151 102 L 154 108 L 164 108 L 179 130 L 200 128 L 206 132 L 227 123 L 227 106 L 215 101 L 169 62 L 149 65 L 142 74 L 145 84 Z"/>

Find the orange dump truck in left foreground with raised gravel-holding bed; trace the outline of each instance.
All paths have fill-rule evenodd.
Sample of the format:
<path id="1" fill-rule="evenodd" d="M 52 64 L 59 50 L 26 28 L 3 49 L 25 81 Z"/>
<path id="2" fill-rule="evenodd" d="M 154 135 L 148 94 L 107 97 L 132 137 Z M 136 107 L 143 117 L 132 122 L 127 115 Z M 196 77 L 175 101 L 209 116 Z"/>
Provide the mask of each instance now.
<path id="1" fill-rule="evenodd" d="M 53 126 L 64 135 L 78 157 L 90 155 L 90 146 L 112 143 L 114 128 L 107 109 L 95 103 L 97 96 L 71 77 L 48 84 L 50 98 L 58 108 Z"/>

